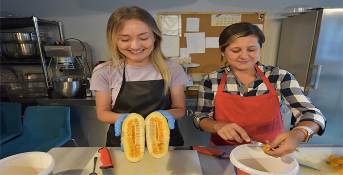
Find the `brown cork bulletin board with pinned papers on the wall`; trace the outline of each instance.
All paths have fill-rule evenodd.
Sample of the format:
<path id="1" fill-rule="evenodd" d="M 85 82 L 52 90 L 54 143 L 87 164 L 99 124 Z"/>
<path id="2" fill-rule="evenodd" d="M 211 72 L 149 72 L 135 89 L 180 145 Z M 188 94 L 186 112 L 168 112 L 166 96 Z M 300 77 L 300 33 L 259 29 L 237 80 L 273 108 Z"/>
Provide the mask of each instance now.
<path id="1" fill-rule="evenodd" d="M 168 35 L 165 29 L 161 26 L 163 24 L 163 17 L 165 16 L 177 16 L 178 17 L 178 33 L 173 33 L 179 38 L 179 45 L 175 49 L 187 48 L 188 33 L 201 33 L 207 39 L 219 37 L 220 33 L 229 25 L 238 22 L 249 22 L 259 26 L 259 28 L 265 33 L 266 24 L 266 12 L 181 12 L 181 13 L 158 13 L 158 25 L 162 31 L 162 35 Z M 196 19 L 198 22 L 198 30 L 189 31 L 188 23 L 189 19 Z M 162 28 L 161 28 L 162 27 Z M 174 27 L 175 26 L 170 26 Z M 187 28 L 186 28 L 187 27 Z M 173 35 L 171 34 L 171 35 Z M 203 37 L 202 37 L 203 38 Z M 207 41 L 206 41 L 207 42 Z M 216 42 L 218 42 L 216 40 Z M 213 42 L 215 43 L 215 42 Z M 207 44 L 207 43 L 206 43 Z M 174 44 L 175 45 L 175 44 Z M 218 44 L 219 45 L 219 44 Z M 188 48 L 187 48 L 188 50 Z M 181 53 L 182 51 L 180 51 Z M 263 54 L 263 47 L 262 47 Z M 168 55 L 167 55 L 168 56 Z M 180 54 L 179 54 L 180 56 Z M 170 57 L 170 56 L 168 56 Z M 174 56 L 178 57 L 178 56 Z M 189 53 L 191 63 L 200 64 L 199 67 L 188 68 L 188 74 L 192 75 L 206 75 L 217 70 L 220 67 L 224 67 L 226 60 L 221 61 L 221 54 L 219 47 L 208 47 L 206 45 L 204 51 L 201 53 Z M 262 55 L 261 55 L 262 59 Z M 180 63 L 180 62 L 178 62 Z"/>

